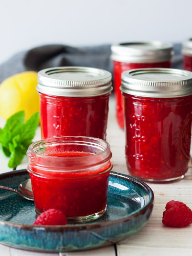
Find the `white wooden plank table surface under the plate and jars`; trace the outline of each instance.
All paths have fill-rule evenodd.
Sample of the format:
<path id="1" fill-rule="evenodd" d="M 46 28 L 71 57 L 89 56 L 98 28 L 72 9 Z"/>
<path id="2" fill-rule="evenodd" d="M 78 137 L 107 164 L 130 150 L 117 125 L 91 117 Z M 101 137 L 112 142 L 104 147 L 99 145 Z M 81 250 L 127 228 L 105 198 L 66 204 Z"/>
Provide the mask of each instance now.
<path id="1" fill-rule="evenodd" d="M 4 122 L 0 120 L 2 126 Z M 124 155 L 124 131 L 121 130 L 115 118 L 115 100 L 111 96 L 109 102 L 108 133 L 107 140 L 111 146 L 113 171 L 128 173 L 125 164 Z M 35 140 L 40 139 L 40 128 L 36 133 Z M 10 171 L 6 167 L 6 161 L 3 155 L 0 156 L 0 172 Z M 26 168 L 28 159 L 17 169 Z M 155 184 L 148 183 L 155 194 L 155 204 L 152 216 L 147 225 L 135 235 L 114 245 L 101 249 L 83 251 L 83 252 L 65 252 L 65 253 L 40 253 L 28 252 L 0 245 L 0 255 L 2 256 L 180 256 L 192 255 L 192 225 L 186 228 L 168 228 L 163 226 L 161 220 L 165 204 L 170 200 L 182 201 L 192 209 L 192 164 L 183 180 L 167 183 Z"/>

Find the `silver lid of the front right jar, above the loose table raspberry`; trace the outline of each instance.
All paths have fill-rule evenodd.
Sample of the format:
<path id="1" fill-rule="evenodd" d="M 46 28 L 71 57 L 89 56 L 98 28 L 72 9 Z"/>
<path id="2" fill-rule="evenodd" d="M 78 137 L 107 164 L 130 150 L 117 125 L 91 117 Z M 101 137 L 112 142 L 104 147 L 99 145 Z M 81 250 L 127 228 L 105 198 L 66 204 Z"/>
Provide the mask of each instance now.
<path id="1" fill-rule="evenodd" d="M 192 72 L 172 68 L 140 68 L 122 73 L 121 91 L 150 98 L 192 95 Z"/>

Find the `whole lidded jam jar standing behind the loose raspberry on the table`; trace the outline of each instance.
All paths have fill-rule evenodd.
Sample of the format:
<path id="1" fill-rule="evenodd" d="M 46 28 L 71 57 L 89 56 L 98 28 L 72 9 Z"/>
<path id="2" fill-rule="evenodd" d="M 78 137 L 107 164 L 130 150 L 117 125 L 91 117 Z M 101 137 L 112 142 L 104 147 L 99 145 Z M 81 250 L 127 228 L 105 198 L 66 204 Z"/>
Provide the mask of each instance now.
<path id="1" fill-rule="evenodd" d="M 122 73 L 125 156 L 132 176 L 180 180 L 188 170 L 192 72 L 169 68 Z"/>

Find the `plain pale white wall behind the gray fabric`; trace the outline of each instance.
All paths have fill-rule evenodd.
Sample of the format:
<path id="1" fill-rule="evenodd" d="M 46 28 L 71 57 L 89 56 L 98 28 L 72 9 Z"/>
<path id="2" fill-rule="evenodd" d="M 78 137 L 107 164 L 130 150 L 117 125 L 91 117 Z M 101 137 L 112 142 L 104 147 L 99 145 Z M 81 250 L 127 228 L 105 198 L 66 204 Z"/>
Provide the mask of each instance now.
<path id="1" fill-rule="evenodd" d="M 192 37 L 191 0 L 0 0 L 0 63 L 43 44 Z"/>

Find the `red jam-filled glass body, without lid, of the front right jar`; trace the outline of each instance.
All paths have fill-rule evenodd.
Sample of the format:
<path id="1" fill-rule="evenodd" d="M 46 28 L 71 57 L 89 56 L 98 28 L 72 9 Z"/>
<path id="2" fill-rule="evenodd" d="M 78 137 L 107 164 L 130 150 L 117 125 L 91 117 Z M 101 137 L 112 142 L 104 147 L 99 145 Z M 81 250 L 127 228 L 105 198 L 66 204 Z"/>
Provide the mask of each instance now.
<path id="1" fill-rule="evenodd" d="M 146 181 L 183 178 L 190 160 L 192 96 L 123 97 L 130 174 Z"/>

